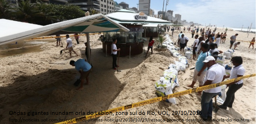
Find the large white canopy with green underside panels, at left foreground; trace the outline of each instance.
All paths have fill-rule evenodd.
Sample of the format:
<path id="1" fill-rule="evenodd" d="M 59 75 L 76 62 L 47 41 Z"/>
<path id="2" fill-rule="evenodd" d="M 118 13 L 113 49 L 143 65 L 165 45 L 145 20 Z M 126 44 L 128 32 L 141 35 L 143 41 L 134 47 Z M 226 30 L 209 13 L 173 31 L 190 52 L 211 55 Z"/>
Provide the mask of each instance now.
<path id="1" fill-rule="evenodd" d="M 12 21 L 11 21 L 12 22 Z M 15 21 L 13 21 L 15 22 Z M 13 23 L 12 22 L 12 23 Z M 20 22 L 16 22 L 21 25 Z M 22 23 L 23 24 L 23 23 Z M 6 31 L 11 27 L 10 24 L 1 24 L 6 25 L 4 29 L 1 27 L 1 31 Z M 10 27 L 8 27 L 8 25 Z M 26 24 L 34 25 L 34 24 Z M 19 27 L 17 26 L 17 27 Z M 47 36 L 50 34 L 68 34 L 68 33 L 90 33 L 90 32 L 127 32 L 129 29 L 123 27 L 122 25 L 116 23 L 109 17 L 99 13 L 95 15 L 90 15 L 78 19 L 72 19 L 68 21 L 63 21 L 59 23 L 54 23 L 46 26 L 30 26 L 33 28 L 27 28 L 23 32 L 11 32 L 10 34 L 0 36 L 0 45 L 8 42 L 16 42 L 21 40 L 27 40 L 30 38 L 36 38 L 40 36 Z M 36 28 L 37 27 L 37 28 Z"/>

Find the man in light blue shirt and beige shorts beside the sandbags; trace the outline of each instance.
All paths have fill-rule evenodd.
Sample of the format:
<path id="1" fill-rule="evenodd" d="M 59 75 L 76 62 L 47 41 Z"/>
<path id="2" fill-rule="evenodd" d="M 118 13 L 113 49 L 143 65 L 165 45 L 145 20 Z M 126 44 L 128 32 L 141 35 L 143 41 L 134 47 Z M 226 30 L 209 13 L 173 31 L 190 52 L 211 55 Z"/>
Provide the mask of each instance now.
<path id="1" fill-rule="evenodd" d="M 194 88 L 194 85 L 196 84 L 196 82 L 199 82 L 199 87 L 204 85 L 204 75 L 206 73 L 207 67 L 206 65 L 204 65 L 203 61 L 205 60 L 205 58 L 207 56 L 210 56 L 211 54 L 209 52 L 207 52 L 208 49 L 208 44 L 207 43 L 203 43 L 202 47 L 201 47 L 201 53 L 199 54 L 197 61 L 196 61 L 196 67 L 194 70 L 194 76 L 193 76 L 193 81 L 190 85 L 187 85 L 187 87 L 190 88 Z M 198 95 L 200 95 L 202 93 L 198 92 Z"/>

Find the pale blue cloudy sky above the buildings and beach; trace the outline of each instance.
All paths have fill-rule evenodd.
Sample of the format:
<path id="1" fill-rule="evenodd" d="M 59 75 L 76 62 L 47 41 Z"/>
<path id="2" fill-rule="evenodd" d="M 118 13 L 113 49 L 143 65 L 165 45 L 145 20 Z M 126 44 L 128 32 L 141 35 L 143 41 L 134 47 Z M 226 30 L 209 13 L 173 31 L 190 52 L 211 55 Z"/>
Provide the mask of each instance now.
<path id="1" fill-rule="evenodd" d="M 117 3 L 125 2 L 129 8 L 136 7 L 139 0 L 114 0 Z M 164 3 L 165 2 L 165 3 Z M 217 25 L 217 27 L 248 27 L 255 28 L 256 1 L 255 0 L 151 0 L 150 8 L 155 11 L 167 10 L 181 15 L 181 20 L 193 21 L 202 25 Z"/>

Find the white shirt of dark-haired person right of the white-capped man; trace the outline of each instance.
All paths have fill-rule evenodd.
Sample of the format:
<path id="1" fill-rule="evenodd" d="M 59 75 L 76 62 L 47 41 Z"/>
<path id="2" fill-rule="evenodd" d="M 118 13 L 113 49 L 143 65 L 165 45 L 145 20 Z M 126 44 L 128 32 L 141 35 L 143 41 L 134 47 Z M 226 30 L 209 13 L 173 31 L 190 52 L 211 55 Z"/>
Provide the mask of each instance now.
<path id="1" fill-rule="evenodd" d="M 245 68 L 242 65 L 237 67 L 234 66 L 233 69 L 231 70 L 229 79 L 234 79 L 234 78 L 237 78 L 237 75 L 244 75 L 244 74 L 245 74 Z M 243 83 L 243 80 L 240 80 L 235 84 L 242 84 L 242 83 Z"/>

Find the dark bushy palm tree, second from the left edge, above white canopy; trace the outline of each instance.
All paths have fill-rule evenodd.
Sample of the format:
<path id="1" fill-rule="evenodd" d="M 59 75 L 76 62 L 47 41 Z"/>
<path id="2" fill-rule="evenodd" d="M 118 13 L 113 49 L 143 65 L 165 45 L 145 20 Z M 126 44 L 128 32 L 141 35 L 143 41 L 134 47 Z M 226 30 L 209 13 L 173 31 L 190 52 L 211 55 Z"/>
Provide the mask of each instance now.
<path id="1" fill-rule="evenodd" d="M 16 5 L 17 18 L 20 21 L 35 23 L 37 17 L 44 17 L 44 13 L 37 10 L 35 3 L 30 3 L 30 1 L 19 1 Z"/>

